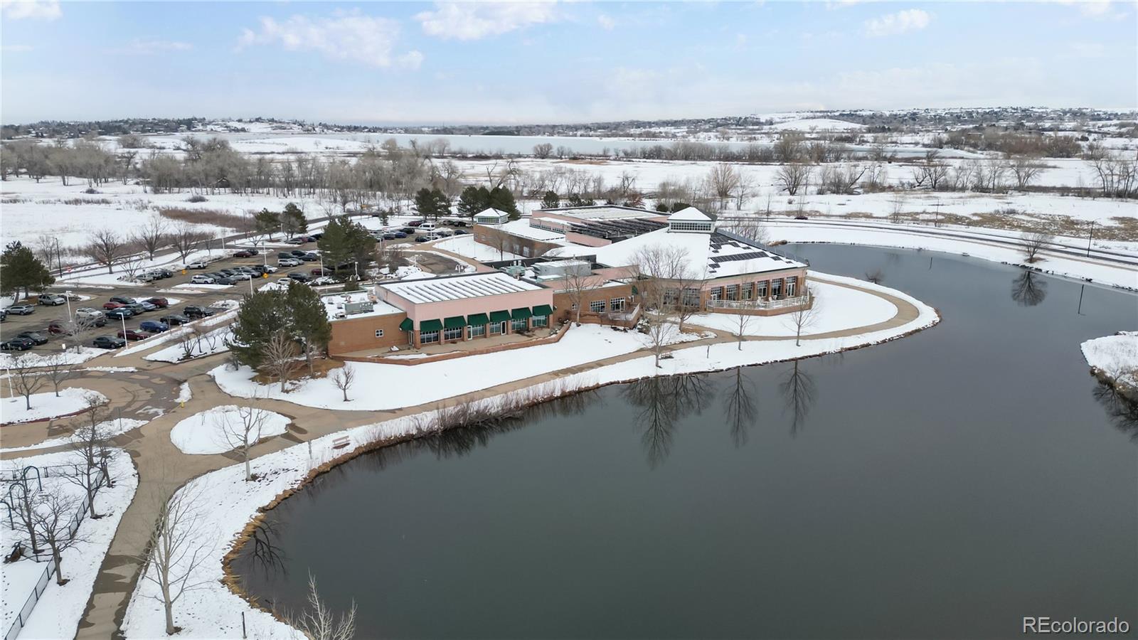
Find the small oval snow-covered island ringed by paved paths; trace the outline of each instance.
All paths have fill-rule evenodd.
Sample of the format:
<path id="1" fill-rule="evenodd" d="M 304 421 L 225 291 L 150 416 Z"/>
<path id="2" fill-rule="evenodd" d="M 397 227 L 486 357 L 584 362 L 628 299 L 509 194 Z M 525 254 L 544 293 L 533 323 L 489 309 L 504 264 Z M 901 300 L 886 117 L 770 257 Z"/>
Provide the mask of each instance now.
<path id="1" fill-rule="evenodd" d="M 249 440 L 257 441 L 284 433 L 289 419 L 264 409 L 246 409 L 236 404 L 214 407 L 181 420 L 170 432 L 170 441 L 182 453 L 224 453 L 240 445 L 246 420 Z"/>

